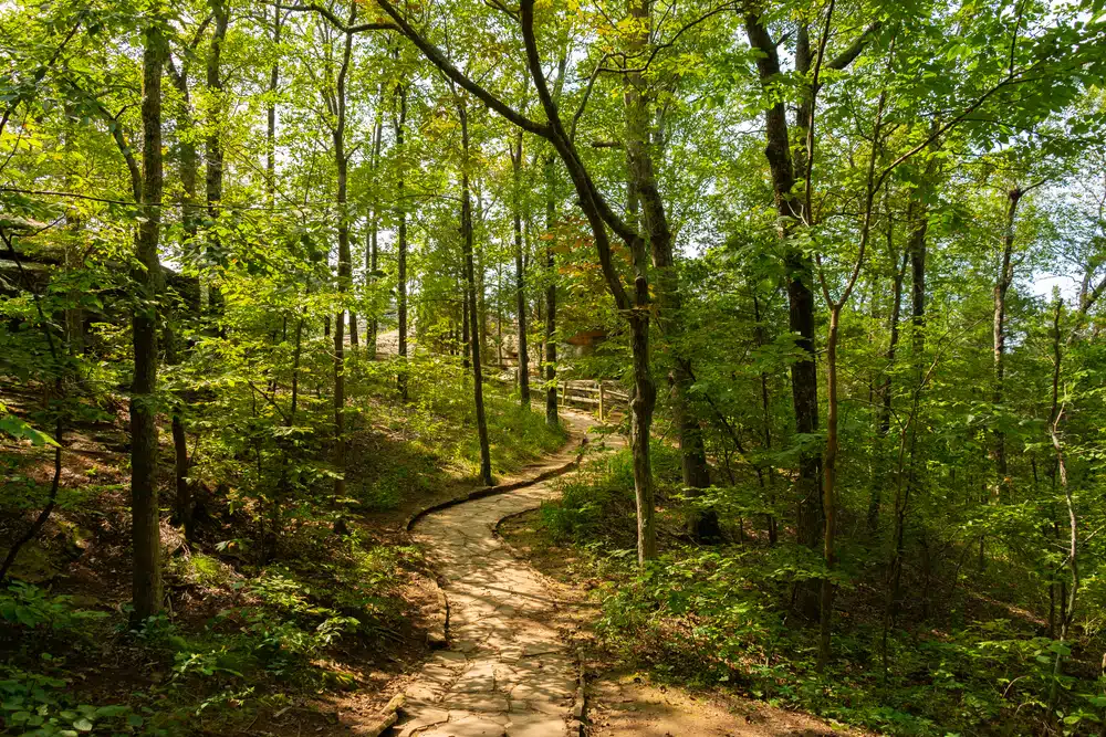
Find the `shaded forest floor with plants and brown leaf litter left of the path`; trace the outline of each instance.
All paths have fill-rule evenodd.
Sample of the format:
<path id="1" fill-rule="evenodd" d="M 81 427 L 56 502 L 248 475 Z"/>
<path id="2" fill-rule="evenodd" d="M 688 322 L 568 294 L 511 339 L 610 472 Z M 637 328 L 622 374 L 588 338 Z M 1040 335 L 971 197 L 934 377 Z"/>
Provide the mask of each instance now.
<path id="1" fill-rule="evenodd" d="M 543 415 L 489 389 L 498 478 L 565 443 Z M 427 656 L 427 630 L 444 617 L 436 572 L 406 525 L 481 484 L 463 403 L 410 412 L 387 392 L 359 394 L 353 401 L 372 401 L 376 421 L 351 428 L 349 497 L 328 514 L 284 508 L 281 528 L 267 529 L 261 502 L 233 488 L 248 481 L 226 473 L 228 465 L 250 473 L 249 451 L 192 472 L 194 533 L 186 540 L 163 520 L 165 613 L 138 628 L 128 617 L 124 404 L 109 399 L 96 421 L 72 428 L 64 491 L 0 598 L 9 729 L 34 727 L 39 714 L 48 725 L 62 715 L 58 729 L 87 719 L 97 734 L 353 735 L 372 724 Z M 12 385 L 3 397 L 17 412 L 39 399 Z M 216 441 L 194 442 L 205 440 Z M 29 524 L 25 505 L 49 488 L 52 455 L 45 446 L 2 448 L 0 538 L 14 540 Z M 171 465 L 163 474 L 171 480 Z M 13 718 L 19 712 L 29 718 Z"/>

